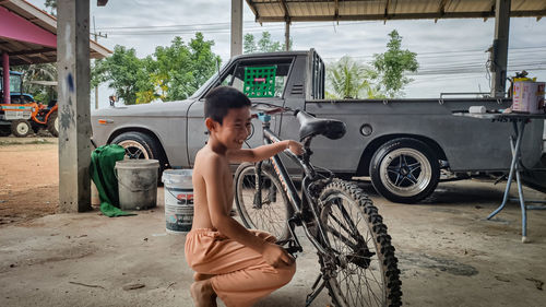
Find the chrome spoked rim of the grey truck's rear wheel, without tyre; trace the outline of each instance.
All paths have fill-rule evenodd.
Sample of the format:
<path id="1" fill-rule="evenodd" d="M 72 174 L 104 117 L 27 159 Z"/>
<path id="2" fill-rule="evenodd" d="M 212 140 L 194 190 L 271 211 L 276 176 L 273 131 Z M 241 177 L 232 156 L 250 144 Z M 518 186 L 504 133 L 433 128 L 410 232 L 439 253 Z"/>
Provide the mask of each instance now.
<path id="1" fill-rule="evenodd" d="M 430 184 L 432 170 L 427 157 L 414 149 L 390 152 L 381 162 L 380 176 L 385 188 L 402 197 L 415 196 Z"/>

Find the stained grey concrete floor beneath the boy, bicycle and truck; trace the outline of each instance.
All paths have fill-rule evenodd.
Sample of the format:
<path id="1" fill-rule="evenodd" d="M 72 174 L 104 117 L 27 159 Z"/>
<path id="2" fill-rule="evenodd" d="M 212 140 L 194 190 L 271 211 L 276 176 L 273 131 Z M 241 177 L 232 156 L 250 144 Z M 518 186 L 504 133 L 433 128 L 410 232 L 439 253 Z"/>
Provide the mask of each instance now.
<path id="1" fill-rule="evenodd" d="M 405 306 L 545 306 L 545 211 L 529 212 L 532 241 L 522 244 L 515 203 L 485 220 L 502 185 L 441 184 L 415 205 L 363 187 L 396 247 Z M 155 210 L 138 216 L 55 214 L 0 228 L 0 306 L 192 306 L 185 235 L 165 233 L 162 193 Z M 305 248 L 294 280 L 257 306 L 304 306 L 318 272 L 314 252 Z M 143 287 L 130 290 L 135 285 Z M 312 306 L 328 303 L 323 294 Z"/>

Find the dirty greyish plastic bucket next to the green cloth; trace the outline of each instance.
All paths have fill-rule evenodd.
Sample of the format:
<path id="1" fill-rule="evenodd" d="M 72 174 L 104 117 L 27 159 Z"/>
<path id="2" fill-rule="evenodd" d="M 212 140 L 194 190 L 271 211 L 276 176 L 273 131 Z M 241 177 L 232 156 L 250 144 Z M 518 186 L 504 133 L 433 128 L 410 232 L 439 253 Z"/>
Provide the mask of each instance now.
<path id="1" fill-rule="evenodd" d="M 144 210 L 156 205 L 157 160 L 122 160 L 117 161 L 114 168 L 121 210 Z"/>

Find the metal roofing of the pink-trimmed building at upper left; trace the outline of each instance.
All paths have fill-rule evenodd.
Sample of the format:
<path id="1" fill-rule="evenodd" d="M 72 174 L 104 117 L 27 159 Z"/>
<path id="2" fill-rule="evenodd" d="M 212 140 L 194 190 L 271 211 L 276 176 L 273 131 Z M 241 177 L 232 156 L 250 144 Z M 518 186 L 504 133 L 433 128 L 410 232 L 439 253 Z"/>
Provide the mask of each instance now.
<path id="1" fill-rule="evenodd" d="M 57 35 L 57 19 L 24 0 L 0 0 L 0 7 L 28 22 Z M 104 58 L 111 54 L 106 47 L 90 39 L 91 58 Z M 10 55 L 10 64 L 29 64 L 57 61 L 57 49 L 41 45 L 0 37 L 0 52 Z"/>

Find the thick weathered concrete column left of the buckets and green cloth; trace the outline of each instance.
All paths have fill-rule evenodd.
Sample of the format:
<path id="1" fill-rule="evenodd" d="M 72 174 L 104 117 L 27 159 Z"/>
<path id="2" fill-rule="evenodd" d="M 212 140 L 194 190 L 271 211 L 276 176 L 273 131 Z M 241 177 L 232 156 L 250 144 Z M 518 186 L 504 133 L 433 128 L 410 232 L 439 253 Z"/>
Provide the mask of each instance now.
<path id="1" fill-rule="evenodd" d="M 57 3 L 59 203 L 83 212 L 91 210 L 90 1 Z"/>

